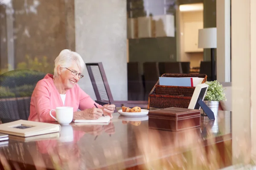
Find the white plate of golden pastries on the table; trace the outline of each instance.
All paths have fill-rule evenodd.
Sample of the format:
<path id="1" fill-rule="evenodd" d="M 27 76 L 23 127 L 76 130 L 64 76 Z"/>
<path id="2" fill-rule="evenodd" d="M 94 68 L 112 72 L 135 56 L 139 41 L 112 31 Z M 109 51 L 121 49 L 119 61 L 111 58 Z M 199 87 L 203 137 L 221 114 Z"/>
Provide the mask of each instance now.
<path id="1" fill-rule="evenodd" d="M 145 116 L 148 114 L 148 110 L 141 109 L 138 106 L 134 108 L 122 106 L 122 110 L 119 110 L 117 112 L 122 116 Z"/>

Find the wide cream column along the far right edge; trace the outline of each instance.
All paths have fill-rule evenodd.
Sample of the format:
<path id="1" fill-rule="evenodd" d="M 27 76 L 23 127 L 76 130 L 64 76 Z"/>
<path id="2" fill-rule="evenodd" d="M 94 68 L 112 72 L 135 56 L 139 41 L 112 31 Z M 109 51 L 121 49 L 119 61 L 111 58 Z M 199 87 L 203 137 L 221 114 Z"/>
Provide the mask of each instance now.
<path id="1" fill-rule="evenodd" d="M 232 154 L 237 164 L 248 163 L 256 153 L 256 1 L 231 4 Z"/>

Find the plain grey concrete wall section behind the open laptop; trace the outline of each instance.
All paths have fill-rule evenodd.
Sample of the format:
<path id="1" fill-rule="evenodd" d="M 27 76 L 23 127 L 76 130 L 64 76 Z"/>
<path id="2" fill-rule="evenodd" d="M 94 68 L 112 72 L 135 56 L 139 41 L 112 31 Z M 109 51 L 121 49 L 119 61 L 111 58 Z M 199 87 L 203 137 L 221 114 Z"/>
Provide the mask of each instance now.
<path id="1" fill-rule="evenodd" d="M 127 99 L 126 0 L 75 0 L 76 51 L 102 62 L 114 100 Z M 96 99 L 87 70 L 80 87 Z"/>

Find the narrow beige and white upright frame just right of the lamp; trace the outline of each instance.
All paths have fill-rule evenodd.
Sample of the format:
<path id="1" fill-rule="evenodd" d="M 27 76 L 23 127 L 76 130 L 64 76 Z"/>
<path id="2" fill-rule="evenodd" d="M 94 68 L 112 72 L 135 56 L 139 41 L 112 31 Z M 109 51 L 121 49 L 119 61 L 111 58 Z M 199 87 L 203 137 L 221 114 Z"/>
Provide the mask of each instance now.
<path id="1" fill-rule="evenodd" d="M 216 0 L 217 80 L 230 82 L 230 0 Z"/>

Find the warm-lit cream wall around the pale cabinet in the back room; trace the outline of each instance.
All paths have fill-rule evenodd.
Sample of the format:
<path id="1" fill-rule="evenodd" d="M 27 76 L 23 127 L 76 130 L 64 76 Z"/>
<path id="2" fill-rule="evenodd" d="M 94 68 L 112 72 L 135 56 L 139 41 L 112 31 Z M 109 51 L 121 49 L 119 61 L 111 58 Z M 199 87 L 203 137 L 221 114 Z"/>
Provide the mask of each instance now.
<path id="1" fill-rule="evenodd" d="M 200 62 L 204 60 L 203 52 L 184 52 L 184 26 L 186 22 L 202 22 L 203 23 L 203 11 L 189 11 L 180 12 L 180 61 L 190 61 L 190 67 L 200 67 Z"/>

